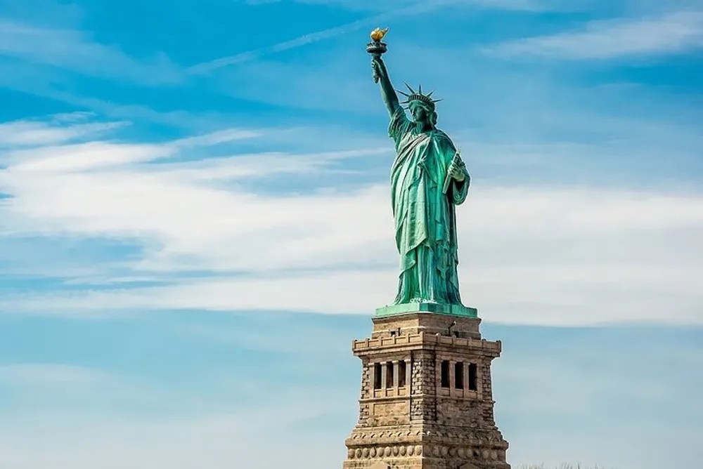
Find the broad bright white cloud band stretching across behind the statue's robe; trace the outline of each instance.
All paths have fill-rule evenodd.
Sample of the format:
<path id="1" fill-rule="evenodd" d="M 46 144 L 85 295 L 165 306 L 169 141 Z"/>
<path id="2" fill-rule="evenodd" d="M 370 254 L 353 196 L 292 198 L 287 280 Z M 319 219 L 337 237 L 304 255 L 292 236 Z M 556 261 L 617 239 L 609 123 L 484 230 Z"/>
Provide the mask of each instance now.
<path id="1" fill-rule="evenodd" d="M 222 136 L 241 134 L 202 136 L 200 143 L 217 143 Z M 316 190 L 302 194 L 275 190 L 295 175 L 325 180 L 319 176 L 344 171 L 346 159 L 386 150 L 134 163 L 176 147 L 198 155 L 198 140 L 185 141 L 194 146 L 184 140 L 85 143 L 15 153 L 0 171 L 0 187 L 13 195 L 0 204 L 5 232 L 138 242 L 141 255 L 121 259 L 126 270 L 119 277 L 162 276 L 168 284 L 6 295 L 3 309 L 67 315 L 145 308 L 369 314 L 392 300 L 396 254 L 386 183 L 318 182 Z M 465 302 L 486 319 L 703 322 L 703 292 L 696 281 L 703 277 L 699 194 L 508 189 L 484 187 L 478 180 L 458 209 L 458 223 Z M 106 272 L 113 270 L 106 266 Z M 201 273 L 188 279 L 188 272 Z M 79 281 L 70 280 L 74 286 Z"/>

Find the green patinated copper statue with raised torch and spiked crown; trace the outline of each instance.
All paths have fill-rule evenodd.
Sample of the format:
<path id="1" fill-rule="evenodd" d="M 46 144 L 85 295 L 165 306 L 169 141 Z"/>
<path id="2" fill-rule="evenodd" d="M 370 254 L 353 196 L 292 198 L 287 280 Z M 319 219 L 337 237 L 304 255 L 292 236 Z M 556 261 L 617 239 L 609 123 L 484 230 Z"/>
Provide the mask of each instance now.
<path id="1" fill-rule="evenodd" d="M 385 44 L 367 46 L 396 152 L 390 182 L 400 273 L 393 305 L 376 315 L 402 314 L 409 305 L 422 305 L 427 312 L 475 317 L 476 310 L 461 302 L 457 275 L 455 208 L 467 197 L 469 173 L 451 138 L 437 128 L 432 93 L 406 85 L 408 93 L 400 91 L 406 100 L 399 101 L 381 58 L 385 50 Z"/>

